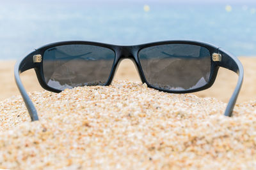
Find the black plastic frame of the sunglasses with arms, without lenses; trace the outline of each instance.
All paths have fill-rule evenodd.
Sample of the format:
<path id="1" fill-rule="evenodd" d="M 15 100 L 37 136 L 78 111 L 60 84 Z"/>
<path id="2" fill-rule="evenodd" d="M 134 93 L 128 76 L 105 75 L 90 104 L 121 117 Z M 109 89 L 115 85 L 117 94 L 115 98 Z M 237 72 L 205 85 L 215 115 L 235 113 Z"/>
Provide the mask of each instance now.
<path id="1" fill-rule="evenodd" d="M 150 46 L 157 46 L 157 45 L 169 45 L 169 44 L 186 44 L 186 45 L 198 45 L 198 46 L 204 46 L 209 50 L 211 54 L 211 73 L 209 76 L 209 81 L 207 84 L 205 84 L 202 87 L 191 89 L 191 90 L 164 90 L 159 89 L 157 87 L 154 87 L 148 83 L 146 80 L 143 69 L 140 64 L 140 59 L 138 57 L 138 53 L 143 48 L 147 48 Z M 15 81 L 17 83 L 17 86 L 20 90 L 20 93 L 22 94 L 22 97 L 24 99 L 24 102 L 26 103 L 26 106 L 29 111 L 29 115 L 31 117 L 31 120 L 38 120 L 38 115 L 35 109 L 35 106 L 31 102 L 31 99 L 29 99 L 28 94 L 26 93 L 26 90 L 24 89 L 24 86 L 22 85 L 22 82 L 20 80 L 20 73 L 28 70 L 28 69 L 35 69 L 36 76 L 38 78 L 38 81 L 40 85 L 45 89 L 49 90 L 51 92 L 61 92 L 61 90 L 54 89 L 52 87 L 49 87 L 44 79 L 44 71 L 43 71 L 43 62 L 44 62 L 44 52 L 45 50 L 52 48 L 54 46 L 61 46 L 61 45 L 94 45 L 94 46 L 101 46 L 104 48 L 108 48 L 110 50 L 113 50 L 115 52 L 115 59 L 113 61 L 113 66 L 111 68 L 111 72 L 109 73 L 108 81 L 106 81 L 105 85 L 110 85 L 113 77 L 115 75 L 116 69 L 118 68 L 120 61 L 123 59 L 131 59 L 134 64 L 136 65 L 136 68 L 138 70 L 138 73 L 140 74 L 140 78 L 142 83 L 147 83 L 147 86 L 152 89 L 157 89 L 159 91 L 163 92 L 169 92 L 169 93 L 177 93 L 177 94 L 183 94 L 183 93 L 191 93 L 191 92 L 198 92 L 200 90 L 209 89 L 209 87 L 212 86 L 214 83 L 216 76 L 218 74 L 218 69 L 220 67 L 225 67 L 227 69 L 230 69 L 231 71 L 236 72 L 239 75 L 239 79 L 237 82 L 236 89 L 230 98 L 230 101 L 228 102 L 228 106 L 225 111 L 225 115 L 230 117 L 232 115 L 232 110 L 234 108 L 234 105 L 236 103 L 237 96 L 239 94 L 239 90 L 241 89 L 241 85 L 243 82 L 243 66 L 241 62 L 235 57 L 234 55 L 231 55 L 228 52 L 225 52 L 225 50 L 222 50 L 218 46 L 210 45 L 209 43 L 203 43 L 199 41 L 188 41 L 188 40 L 173 40 L 173 41 L 158 41 L 154 43 L 146 43 L 142 45 L 131 45 L 131 46 L 120 46 L 120 45 L 110 45 L 105 43 L 97 43 L 92 41 L 61 41 L 57 43 L 51 43 L 49 45 L 42 46 L 38 48 L 37 50 L 33 50 L 31 53 L 29 53 L 26 57 L 20 59 L 15 64 Z M 212 60 L 212 54 L 218 53 L 221 55 L 220 61 L 214 61 Z M 34 55 L 40 54 L 42 56 L 42 59 L 40 62 L 34 62 L 33 57 Z"/>

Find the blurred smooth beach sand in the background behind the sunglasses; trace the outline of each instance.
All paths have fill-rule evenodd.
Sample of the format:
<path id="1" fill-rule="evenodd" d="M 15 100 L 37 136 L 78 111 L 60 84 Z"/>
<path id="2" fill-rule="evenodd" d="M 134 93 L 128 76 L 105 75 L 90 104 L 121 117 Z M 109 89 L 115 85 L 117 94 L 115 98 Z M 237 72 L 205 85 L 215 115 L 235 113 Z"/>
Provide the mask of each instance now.
<path id="1" fill-rule="evenodd" d="M 237 103 L 249 101 L 256 98 L 256 57 L 239 57 L 244 66 L 243 87 L 237 99 Z M 0 62 L 0 100 L 8 97 L 19 95 L 13 77 L 13 67 L 15 61 Z M 29 70 L 21 74 L 22 82 L 28 92 L 42 91 L 34 70 Z M 123 60 L 118 67 L 114 80 L 140 81 L 140 77 L 131 60 Z M 227 69 L 220 69 L 214 85 L 202 92 L 196 92 L 198 97 L 215 97 L 225 103 L 232 96 L 232 92 L 236 87 L 237 75 Z"/>

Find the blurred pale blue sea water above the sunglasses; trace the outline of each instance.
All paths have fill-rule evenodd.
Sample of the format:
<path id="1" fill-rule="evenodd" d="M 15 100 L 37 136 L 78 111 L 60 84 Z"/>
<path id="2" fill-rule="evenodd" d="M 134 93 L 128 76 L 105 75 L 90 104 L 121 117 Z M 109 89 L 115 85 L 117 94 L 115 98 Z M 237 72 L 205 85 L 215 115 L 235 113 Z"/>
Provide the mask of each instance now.
<path id="1" fill-rule="evenodd" d="M 149 11 L 143 10 L 146 4 Z M 0 1 L 2 60 L 56 41 L 136 45 L 168 39 L 205 41 L 237 56 L 256 56 L 256 4 Z"/>

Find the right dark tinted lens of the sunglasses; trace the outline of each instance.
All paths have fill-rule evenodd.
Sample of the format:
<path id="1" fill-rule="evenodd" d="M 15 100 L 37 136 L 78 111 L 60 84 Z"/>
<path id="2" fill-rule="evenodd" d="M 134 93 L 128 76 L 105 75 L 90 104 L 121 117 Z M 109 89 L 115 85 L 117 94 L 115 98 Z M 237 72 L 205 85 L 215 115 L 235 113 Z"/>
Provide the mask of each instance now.
<path id="1" fill-rule="evenodd" d="M 211 73 L 211 55 L 203 46 L 157 45 L 138 53 L 150 85 L 163 90 L 192 90 L 206 85 Z"/>

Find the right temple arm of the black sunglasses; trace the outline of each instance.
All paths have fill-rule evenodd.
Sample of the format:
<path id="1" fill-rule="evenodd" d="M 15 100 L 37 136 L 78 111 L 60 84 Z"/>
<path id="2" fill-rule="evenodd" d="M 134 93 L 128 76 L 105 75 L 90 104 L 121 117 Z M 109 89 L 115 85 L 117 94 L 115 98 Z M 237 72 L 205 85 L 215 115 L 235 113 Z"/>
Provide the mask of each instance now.
<path id="1" fill-rule="evenodd" d="M 230 69 L 231 71 L 234 71 L 235 73 L 237 73 L 239 76 L 236 89 L 234 90 L 230 100 L 228 101 L 228 105 L 224 113 L 225 116 L 231 117 L 232 111 L 236 104 L 237 96 L 239 94 L 239 91 L 243 83 L 244 70 L 241 62 L 237 59 L 237 57 L 226 52 L 221 48 L 219 48 L 218 50 L 219 50 L 219 53 L 221 54 L 221 61 L 217 63 L 218 66 Z"/>

